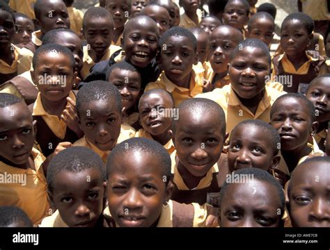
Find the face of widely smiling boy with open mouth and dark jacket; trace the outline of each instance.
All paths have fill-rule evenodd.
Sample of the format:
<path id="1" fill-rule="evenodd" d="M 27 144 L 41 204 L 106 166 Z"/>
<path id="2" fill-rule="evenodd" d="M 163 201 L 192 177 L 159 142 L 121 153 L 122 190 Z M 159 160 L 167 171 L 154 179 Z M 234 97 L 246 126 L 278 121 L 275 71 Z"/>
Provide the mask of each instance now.
<path id="1" fill-rule="evenodd" d="M 149 19 L 139 19 L 125 27 L 123 49 L 129 63 L 146 67 L 155 58 L 158 47 L 159 28 Z"/>

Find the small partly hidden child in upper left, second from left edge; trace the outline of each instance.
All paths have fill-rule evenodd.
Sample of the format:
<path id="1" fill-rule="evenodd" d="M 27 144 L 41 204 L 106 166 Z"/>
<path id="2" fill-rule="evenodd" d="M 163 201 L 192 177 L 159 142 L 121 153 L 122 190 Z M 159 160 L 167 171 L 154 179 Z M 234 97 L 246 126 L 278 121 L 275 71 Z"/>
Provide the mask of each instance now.
<path id="1" fill-rule="evenodd" d="M 15 13 L 16 33 L 13 36 L 13 42 L 18 47 L 27 47 L 31 43 L 31 36 L 34 31 L 34 24 L 28 16 L 22 13 Z"/>

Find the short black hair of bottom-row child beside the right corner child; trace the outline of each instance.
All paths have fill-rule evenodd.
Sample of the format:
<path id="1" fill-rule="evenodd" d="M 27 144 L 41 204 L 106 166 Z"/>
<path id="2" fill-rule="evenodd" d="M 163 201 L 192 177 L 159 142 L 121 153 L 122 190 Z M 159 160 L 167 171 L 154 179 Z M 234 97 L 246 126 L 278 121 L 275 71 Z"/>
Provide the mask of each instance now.
<path id="1" fill-rule="evenodd" d="M 253 180 L 265 181 L 266 183 L 273 185 L 277 190 L 278 199 L 280 200 L 280 203 L 281 203 L 281 208 L 280 208 L 281 212 L 282 212 L 281 214 L 283 215 L 284 208 L 285 208 L 285 194 L 283 192 L 283 188 L 282 188 L 281 184 L 278 183 L 278 181 L 276 180 L 276 178 L 274 178 L 274 176 L 272 176 L 272 174 L 269 174 L 267 171 L 258 169 L 256 167 L 247 167 L 244 169 L 238 169 L 238 170 L 235 170 L 235 172 L 233 172 L 233 173 L 237 174 L 239 176 L 241 176 L 241 175 L 246 176 L 246 174 L 249 174 L 249 175 L 253 176 Z M 234 181 L 227 182 L 227 180 L 223 182 L 223 185 L 222 185 L 222 188 L 220 191 L 220 197 L 219 197 L 220 204 L 223 201 L 223 197 L 225 196 L 225 194 L 228 190 L 228 187 L 230 185 L 232 185 L 233 183 L 235 183 L 235 182 Z"/>

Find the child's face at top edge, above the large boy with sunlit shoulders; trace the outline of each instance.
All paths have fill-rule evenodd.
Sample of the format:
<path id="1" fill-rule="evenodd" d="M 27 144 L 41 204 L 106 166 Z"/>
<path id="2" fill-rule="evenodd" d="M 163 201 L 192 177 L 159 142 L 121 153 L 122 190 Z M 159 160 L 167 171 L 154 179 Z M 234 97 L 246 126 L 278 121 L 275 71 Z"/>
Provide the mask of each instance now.
<path id="1" fill-rule="evenodd" d="M 222 15 L 223 24 L 233 26 L 242 30 L 246 22 L 248 21 L 247 12 L 244 8 L 244 4 L 239 1 L 233 1 L 229 3 Z"/>

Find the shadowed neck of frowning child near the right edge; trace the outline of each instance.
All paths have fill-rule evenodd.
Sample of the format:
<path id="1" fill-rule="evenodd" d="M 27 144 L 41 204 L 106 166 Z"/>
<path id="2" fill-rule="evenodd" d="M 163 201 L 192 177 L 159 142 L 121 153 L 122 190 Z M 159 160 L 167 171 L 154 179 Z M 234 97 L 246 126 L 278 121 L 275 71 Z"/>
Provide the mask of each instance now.
<path id="1" fill-rule="evenodd" d="M 281 154 L 285 160 L 285 163 L 288 165 L 289 172 L 291 173 L 293 169 L 297 167 L 299 160 L 304 156 L 308 156 L 311 151 L 312 149 L 307 146 L 307 143 L 297 149 L 281 149 Z"/>

